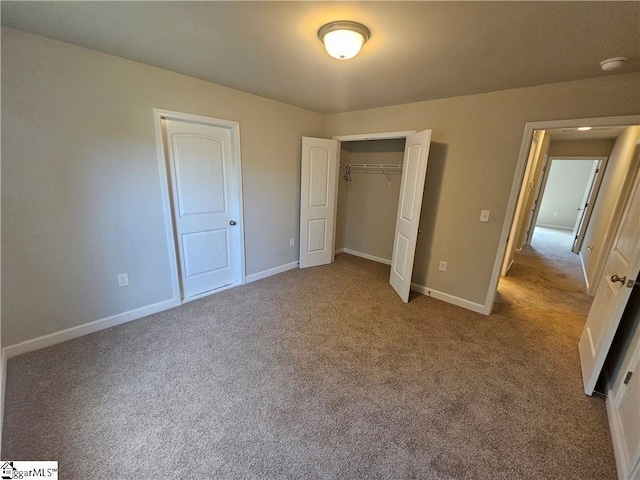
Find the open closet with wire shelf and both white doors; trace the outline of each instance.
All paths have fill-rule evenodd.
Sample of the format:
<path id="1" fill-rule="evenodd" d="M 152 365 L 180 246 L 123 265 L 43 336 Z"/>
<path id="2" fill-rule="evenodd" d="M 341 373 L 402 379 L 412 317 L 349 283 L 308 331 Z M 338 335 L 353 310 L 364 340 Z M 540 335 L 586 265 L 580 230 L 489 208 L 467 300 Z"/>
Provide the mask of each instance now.
<path id="1" fill-rule="evenodd" d="M 337 246 L 389 263 L 407 302 L 430 142 L 431 130 L 303 137 L 300 268 L 333 262 Z"/>

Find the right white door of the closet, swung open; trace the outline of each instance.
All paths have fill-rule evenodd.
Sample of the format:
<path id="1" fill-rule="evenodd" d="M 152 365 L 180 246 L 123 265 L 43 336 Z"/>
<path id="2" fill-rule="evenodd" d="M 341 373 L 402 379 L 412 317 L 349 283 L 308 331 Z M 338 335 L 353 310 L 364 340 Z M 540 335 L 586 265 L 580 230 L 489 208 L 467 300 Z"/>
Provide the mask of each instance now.
<path id="1" fill-rule="evenodd" d="M 422 193 L 430 145 L 431 130 L 424 130 L 407 136 L 404 147 L 389 283 L 405 303 L 409 301 L 411 289 L 411 274 L 418 240 L 418 222 L 422 209 Z"/>

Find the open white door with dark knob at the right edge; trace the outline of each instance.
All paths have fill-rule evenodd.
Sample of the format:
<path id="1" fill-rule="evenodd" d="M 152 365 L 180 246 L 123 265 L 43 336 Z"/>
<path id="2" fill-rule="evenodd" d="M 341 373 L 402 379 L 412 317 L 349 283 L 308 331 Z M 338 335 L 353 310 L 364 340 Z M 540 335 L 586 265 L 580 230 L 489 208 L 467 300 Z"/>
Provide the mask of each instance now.
<path id="1" fill-rule="evenodd" d="M 584 391 L 591 395 L 640 272 L 640 174 L 636 176 L 580 337 Z"/>

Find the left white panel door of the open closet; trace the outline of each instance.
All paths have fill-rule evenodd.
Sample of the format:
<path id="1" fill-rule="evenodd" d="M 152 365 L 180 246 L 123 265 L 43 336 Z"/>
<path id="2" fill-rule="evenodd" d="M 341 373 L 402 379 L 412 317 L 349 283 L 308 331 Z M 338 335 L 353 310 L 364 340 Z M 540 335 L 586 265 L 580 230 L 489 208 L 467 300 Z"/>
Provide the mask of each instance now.
<path id="1" fill-rule="evenodd" d="M 302 137 L 300 268 L 333 262 L 338 167 L 337 140 Z"/>

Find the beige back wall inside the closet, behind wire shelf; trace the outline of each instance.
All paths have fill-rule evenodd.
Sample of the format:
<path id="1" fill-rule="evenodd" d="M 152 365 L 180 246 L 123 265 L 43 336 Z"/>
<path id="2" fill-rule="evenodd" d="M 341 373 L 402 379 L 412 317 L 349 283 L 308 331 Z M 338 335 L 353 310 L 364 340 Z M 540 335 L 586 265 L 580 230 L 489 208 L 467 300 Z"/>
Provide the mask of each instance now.
<path id="1" fill-rule="evenodd" d="M 341 163 L 402 164 L 404 140 L 377 140 L 342 144 Z M 341 247 L 391 261 L 393 234 L 400 195 L 400 175 L 352 171 L 338 192 L 338 234 Z"/>

